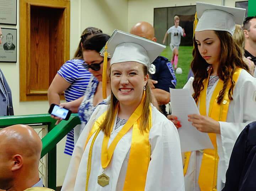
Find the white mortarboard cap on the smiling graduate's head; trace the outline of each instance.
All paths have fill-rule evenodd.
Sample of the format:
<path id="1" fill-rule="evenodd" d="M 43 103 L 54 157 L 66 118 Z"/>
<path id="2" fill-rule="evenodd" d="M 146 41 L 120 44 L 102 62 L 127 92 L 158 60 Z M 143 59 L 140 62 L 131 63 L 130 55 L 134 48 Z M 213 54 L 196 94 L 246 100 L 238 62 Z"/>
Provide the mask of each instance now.
<path id="1" fill-rule="evenodd" d="M 150 64 L 164 49 L 165 46 L 162 44 L 117 29 L 107 42 L 110 65 L 134 61 L 144 64 L 149 69 Z M 101 56 L 104 56 L 104 47 L 100 52 Z"/>

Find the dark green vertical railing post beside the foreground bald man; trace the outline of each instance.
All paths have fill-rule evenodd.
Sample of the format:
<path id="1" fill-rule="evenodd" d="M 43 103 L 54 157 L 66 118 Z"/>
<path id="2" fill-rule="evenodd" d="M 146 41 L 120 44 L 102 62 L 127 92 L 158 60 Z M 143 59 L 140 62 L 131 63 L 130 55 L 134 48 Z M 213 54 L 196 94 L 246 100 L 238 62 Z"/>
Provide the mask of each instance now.
<path id="1" fill-rule="evenodd" d="M 54 128 L 54 124 L 48 125 L 48 133 Z M 48 188 L 56 190 L 57 177 L 57 146 L 48 152 Z"/>

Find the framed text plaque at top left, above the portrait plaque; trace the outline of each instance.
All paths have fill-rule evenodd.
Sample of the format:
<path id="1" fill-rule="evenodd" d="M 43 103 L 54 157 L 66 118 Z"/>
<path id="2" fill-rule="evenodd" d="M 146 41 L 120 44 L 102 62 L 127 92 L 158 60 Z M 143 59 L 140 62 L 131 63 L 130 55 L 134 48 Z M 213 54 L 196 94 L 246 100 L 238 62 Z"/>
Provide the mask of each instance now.
<path id="1" fill-rule="evenodd" d="M 0 24 L 17 24 L 17 0 L 0 0 Z"/>

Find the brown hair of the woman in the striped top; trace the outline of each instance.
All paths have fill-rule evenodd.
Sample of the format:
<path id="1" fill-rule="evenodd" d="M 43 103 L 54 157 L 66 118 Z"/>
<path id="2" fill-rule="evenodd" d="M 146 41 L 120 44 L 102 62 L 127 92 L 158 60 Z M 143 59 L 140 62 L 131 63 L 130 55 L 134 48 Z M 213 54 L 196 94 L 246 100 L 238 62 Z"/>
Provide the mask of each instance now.
<path id="1" fill-rule="evenodd" d="M 87 27 L 86 29 L 84 29 L 84 31 L 82 32 L 81 36 L 80 36 L 80 42 L 78 44 L 78 48 L 76 49 L 76 52 L 74 54 L 73 59 L 83 59 L 82 57 L 82 47 L 81 47 L 81 43 L 84 43 L 84 41 L 91 35 L 94 34 L 100 34 L 102 33 L 101 29 L 95 28 L 95 27 Z"/>

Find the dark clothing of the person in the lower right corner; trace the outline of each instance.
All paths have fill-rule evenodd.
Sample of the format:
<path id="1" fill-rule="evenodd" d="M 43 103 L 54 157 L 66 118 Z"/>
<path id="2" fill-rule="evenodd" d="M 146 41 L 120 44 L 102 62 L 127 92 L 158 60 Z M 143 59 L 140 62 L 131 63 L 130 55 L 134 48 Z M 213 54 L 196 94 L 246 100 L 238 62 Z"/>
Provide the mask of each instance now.
<path id="1" fill-rule="evenodd" d="M 222 191 L 256 190 L 255 175 L 256 122 L 252 122 L 245 127 L 236 140 Z"/>

